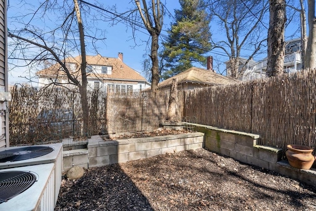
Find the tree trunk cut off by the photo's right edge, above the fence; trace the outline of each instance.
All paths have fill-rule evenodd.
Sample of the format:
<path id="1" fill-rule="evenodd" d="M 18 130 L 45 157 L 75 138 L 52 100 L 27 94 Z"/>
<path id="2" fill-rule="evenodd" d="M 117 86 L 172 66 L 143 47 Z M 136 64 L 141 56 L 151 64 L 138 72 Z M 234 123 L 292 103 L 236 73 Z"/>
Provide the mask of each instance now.
<path id="1" fill-rule="evenodd" d="M 305 68 L 316 68 L 316 18 L 315 0 L 308 0 L 308 28 L 309 35 L 306 47 Z"/>

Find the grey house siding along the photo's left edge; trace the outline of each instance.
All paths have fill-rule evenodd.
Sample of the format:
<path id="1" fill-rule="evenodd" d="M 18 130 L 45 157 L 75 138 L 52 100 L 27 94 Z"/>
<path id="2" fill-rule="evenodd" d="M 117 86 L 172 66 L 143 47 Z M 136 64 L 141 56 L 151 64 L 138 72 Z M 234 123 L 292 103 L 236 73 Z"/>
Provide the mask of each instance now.
<path id="1" fill-rule="evenodd" d="M 6 0 L 0 0 L 0 91 L 8 91 Z M 0 112 L 0 118 L 0 147 L 9 147 L 8 114 Z"/>

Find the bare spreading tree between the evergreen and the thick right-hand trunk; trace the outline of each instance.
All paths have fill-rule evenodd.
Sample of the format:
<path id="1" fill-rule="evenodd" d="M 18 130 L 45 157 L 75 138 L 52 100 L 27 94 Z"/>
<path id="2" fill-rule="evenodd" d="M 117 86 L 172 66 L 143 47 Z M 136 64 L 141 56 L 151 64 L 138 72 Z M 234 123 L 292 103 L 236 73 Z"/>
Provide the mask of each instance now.
<path id="1" fill-rule="evenodd" d="M 218 21 L 223 29 L 222 34 L 225 35 L 225 40 L 211 41 L 213 48 L 220 48 L 227 54 L 229 57 L 227 75 L 237 78 L 242 49 L 251 49 L 247 51 L 246 61 L 243 63 L 246 65 L 261 52 L 261 47 L 266 42 L 266 36 L 262 34 L 266 31 L 263 20 L 268 11 L 268 1 L 211 0 L 206 2 L 214 21 Z"/>

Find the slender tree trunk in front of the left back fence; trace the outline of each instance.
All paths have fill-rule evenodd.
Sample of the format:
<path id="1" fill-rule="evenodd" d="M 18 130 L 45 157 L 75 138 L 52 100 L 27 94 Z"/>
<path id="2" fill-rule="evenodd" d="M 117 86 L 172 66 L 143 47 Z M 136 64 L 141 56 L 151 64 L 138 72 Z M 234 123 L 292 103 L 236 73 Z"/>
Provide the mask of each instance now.
<path id="1" fill-rule="evenodd" d="M 78 0 L 74 0 L 75 10 L 78 21 L 79 28 L 79 39 L 80 39 L 80 50 L 81 50 L 81 85 L 79 84 L 79 93 L 80 93 L 80 101 L 82 107 L 82 120 L 83 120 L 83 136 L 89 137 L 89 107 L 88 107 L 88 99 L 87 99 L 87 75 L 86 75 L 86 55 L 85 55 L 85 43 L 84 43 L 84 31 L 83 24 L 81 19 L 81 14 L 79 10 Z"/>

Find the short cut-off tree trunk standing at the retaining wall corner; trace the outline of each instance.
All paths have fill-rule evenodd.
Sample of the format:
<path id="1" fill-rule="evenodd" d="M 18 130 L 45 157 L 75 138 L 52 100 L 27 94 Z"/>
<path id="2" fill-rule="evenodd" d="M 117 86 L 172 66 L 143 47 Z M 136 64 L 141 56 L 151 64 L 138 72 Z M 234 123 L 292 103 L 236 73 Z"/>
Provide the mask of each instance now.
<path id="1" fill-rule="evenodd" d="M 178 79 L 172 79 L 170 86 L 169 106 L 167 111 L 167 121 L 176 121 L 176 110 L 178 100 Z"/>

